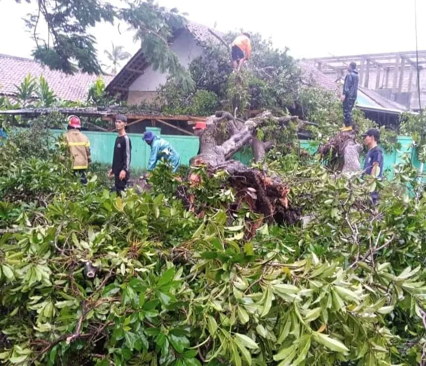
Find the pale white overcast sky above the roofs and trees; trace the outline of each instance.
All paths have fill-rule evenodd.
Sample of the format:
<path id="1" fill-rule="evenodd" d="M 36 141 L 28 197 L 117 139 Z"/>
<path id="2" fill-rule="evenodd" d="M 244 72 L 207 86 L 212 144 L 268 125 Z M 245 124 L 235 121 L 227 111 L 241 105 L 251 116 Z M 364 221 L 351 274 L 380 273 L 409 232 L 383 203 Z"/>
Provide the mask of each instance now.
<path id="1" fill-rule="evenodd" d="M 32 0 L 33 3 L 35 2 Z M 295 58 L 356 55 L 415 50 L 415 0 L 159 0 L 161 5 L 189 13 L 189 19 L 226 32 L 244 28 L 289 47 Z M 0 0 L 0 53 L 31 57 L 34 42 L 21 19 L 34 4 Z M 418 47 L 426 50 L 426 0 L 417 0 Z M 101 60 L 114 44 L 138 50 L 132 33 L 115 27 L 93 30 Z M 123 24 L 120 30 L 126 27 Z"/>

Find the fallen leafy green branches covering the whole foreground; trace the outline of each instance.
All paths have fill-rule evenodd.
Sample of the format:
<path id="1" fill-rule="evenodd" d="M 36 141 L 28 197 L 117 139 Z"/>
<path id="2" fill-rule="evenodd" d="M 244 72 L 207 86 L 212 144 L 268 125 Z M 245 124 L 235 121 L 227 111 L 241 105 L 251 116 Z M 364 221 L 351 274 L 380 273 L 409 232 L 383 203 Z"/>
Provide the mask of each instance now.
<path id="1" fill-rule="evenodd" d="M 149 193 L 117 198 L 105 172 L 81 186 L 60 145 L 32 146 L 42 139 L 0 146 L 4 364 L 421 361 L 426 198 L 409 165 L 392 184 L 348 180 L 273 151 L 267 170 L 285 176 L 291 205 L 312 219 L 253 226 L 249 206 L 231 210 L 226 172 L 209 179 L 199 168 L 197 187 L 184 180 L 194 213 L 166 166 Z"/>

